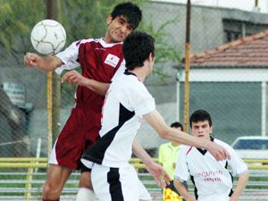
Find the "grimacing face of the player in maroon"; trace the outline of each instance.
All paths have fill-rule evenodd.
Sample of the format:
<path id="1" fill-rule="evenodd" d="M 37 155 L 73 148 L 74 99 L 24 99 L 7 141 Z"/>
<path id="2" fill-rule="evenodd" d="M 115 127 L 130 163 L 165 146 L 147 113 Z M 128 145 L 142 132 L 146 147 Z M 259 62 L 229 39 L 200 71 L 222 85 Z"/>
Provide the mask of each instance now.
<path id="1" fill-rule="evenodd" d="M 108 24 L 108 29 L 105 35 L 106 43 L 123 42 L 134 30 L 134 27 L 122 15 L 114 19 L 112 16 L 109 16 L 106 22 Z"/>

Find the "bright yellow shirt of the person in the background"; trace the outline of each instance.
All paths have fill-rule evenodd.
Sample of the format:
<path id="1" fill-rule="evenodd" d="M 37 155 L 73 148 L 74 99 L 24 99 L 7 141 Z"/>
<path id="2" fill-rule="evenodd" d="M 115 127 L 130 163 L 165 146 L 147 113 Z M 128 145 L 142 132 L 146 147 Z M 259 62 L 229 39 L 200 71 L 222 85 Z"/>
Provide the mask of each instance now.
<path id="1" fill-rule="evenodd" d="M 163 169 L 168 172 L 172 180 L 175 171 L 173 164 L 177 163 L 180 147 L 181 145 L 176 147 L 172 146 L 172 142 L 164 143 L 159 147 L 159 163 L 163 163 Z"/>

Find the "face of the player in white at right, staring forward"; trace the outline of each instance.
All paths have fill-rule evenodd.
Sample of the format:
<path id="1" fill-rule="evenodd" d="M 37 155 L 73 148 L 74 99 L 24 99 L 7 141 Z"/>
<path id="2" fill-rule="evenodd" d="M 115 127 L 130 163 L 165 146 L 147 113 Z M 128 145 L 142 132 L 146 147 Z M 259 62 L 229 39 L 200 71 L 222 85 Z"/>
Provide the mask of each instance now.
<path id="1" fill-rule="evenodd" d="M 212 133 L 213 128 L 210 127 L 209 122 L 205 120 L 192 122 L 191 130 L 193 135 L 198 138 L 210 139 L 210 134 Z"/>

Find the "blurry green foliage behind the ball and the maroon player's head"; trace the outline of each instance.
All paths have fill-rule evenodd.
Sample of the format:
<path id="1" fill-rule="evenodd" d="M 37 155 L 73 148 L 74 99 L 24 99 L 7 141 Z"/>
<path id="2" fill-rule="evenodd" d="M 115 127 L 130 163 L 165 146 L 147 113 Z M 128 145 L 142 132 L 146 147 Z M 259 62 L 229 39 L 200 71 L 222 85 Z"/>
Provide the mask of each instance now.
<path id="1" fill-rule="evenodd" d="M 80 38 L 105 36 L 107 14 L 111 13 L 113 6 L 119 2 L 122 1 L 62 0 L 60 19 L 67 32 L 67 46 Z M 144 0 L 132 2 L 141 8 L 145 3 Z M 45 18 L 45 0 L 0 0 L 0 46 L 4 46 L 8 52 L 31 51 L 30 30 L 38 21 Z M 168 44 L 168 33 L 164 31 L 176 20 L 175 18 L 172 21 L 165 21 L 158 29 L 155 29 L 152 21 L 145 19 L 140 25 L 139 29 L 149 32 L 155 38 L 157 64 L 178 62 L 180 59 L 178 47 Z"/>

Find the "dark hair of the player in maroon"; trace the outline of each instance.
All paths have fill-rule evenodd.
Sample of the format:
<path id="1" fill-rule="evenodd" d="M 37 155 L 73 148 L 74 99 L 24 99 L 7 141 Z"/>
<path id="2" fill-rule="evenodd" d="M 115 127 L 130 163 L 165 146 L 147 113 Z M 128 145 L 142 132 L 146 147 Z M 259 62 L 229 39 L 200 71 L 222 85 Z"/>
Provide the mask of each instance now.
<path id="1" fill-rule="evenodd" d="M 138 24 L 142 18 L 142 12 L 138 5 L 130 2 L 115 5 L 113 12 L 111 13 L 112 18 L 114 19 L 121 15 L 127 19 L 134 29 L 138 27 Z"/>

